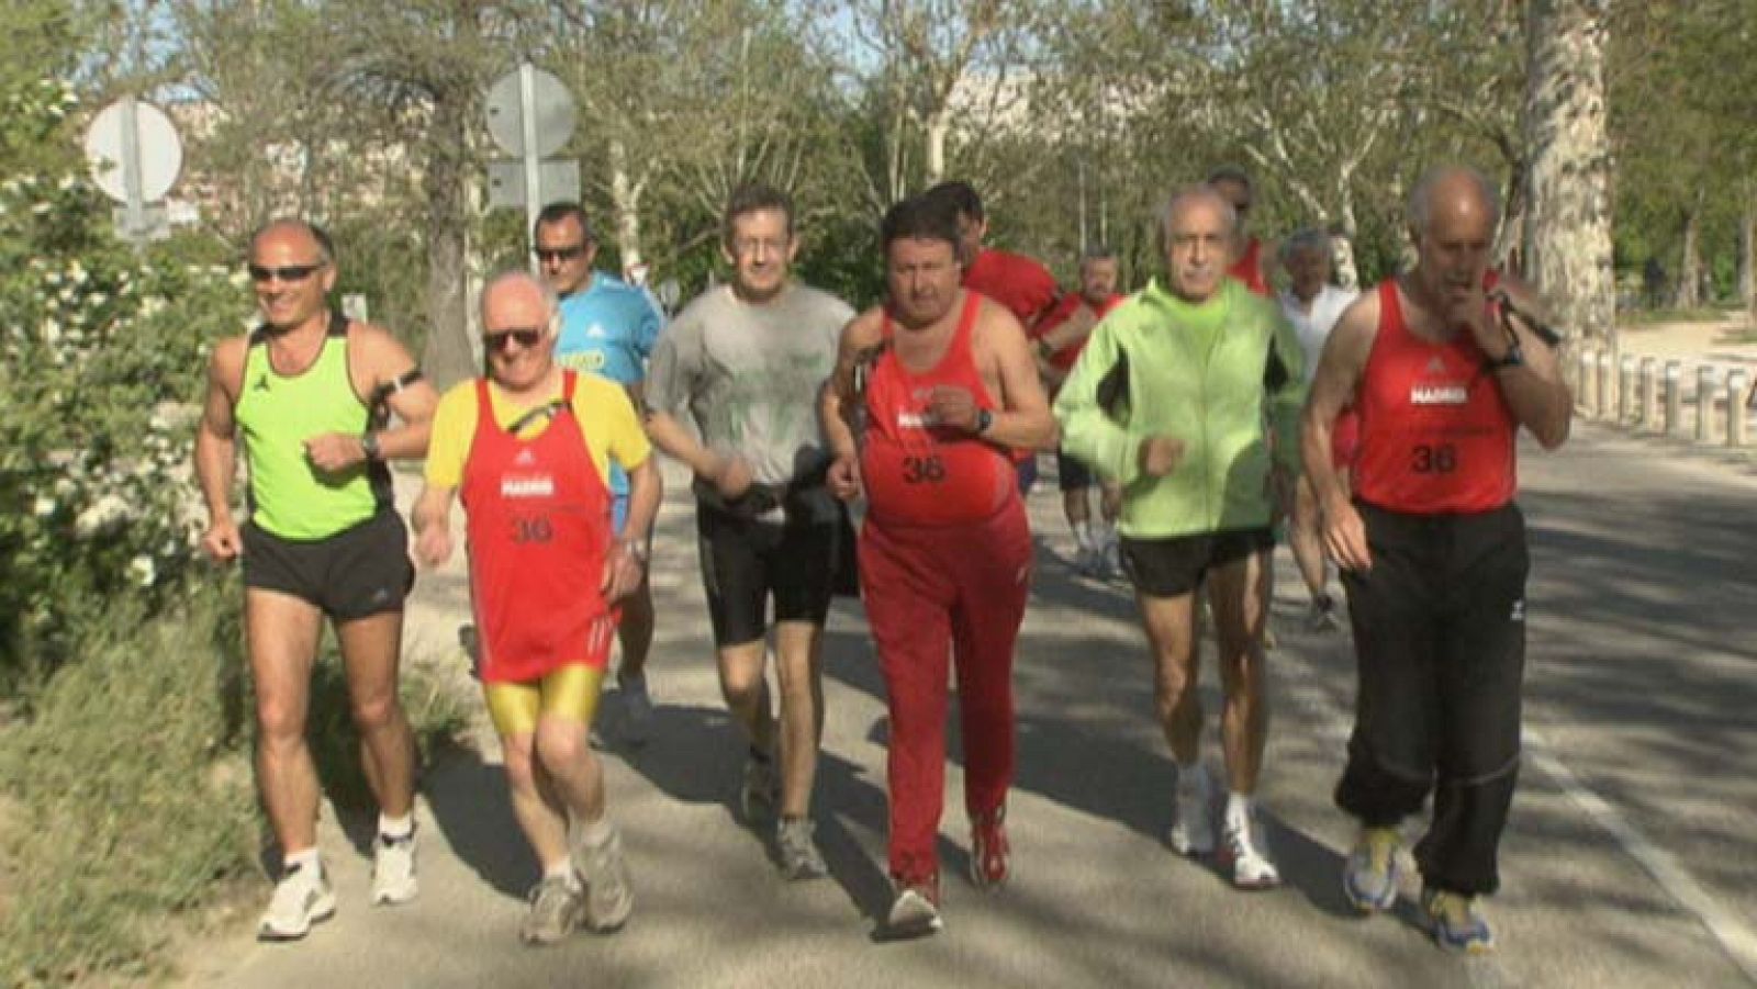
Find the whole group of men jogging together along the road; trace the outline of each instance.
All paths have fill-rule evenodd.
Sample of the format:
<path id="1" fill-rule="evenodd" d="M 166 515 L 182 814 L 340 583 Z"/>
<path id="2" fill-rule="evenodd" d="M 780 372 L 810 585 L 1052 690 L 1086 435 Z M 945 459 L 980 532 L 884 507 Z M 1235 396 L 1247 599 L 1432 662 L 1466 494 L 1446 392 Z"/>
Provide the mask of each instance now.
<path id="1" fill-rule="evenodd" d="M 980 197 L 945 183 L 886 213 L 886 297 L 856 313 L 792 278 L 789 197 L 743 186 L 722 221 L 731 279 L 668 327 L 643 290 L 594 271 L 585 211 L 555 204 L 532 232 L 539 274 L 481 293 L 483 376 L 443 397 L 390 334 L 329 307 L 337 258 L 318 227 L 264 227 L 249 253 L 262 323 L 214 350 L 195 457 L 204 546 L 242 557 L 257 769 L 283 854 L 258 935 L 297 940 L 336 910 L 304 743 L 325 618 L 380 805 L 371 898 L 416 892 L 415 752 L 395 694 L 413 567 L 385 464 L 418 457 L 415 557 L 453 553 L 462 502 L 476 673 L 541 868 L 520 936 L 629 919 L 589 738 L 618 639 L 629 736 L 652 731 L 655 446 L 692 473 L 719 682 L 747 747 L 740 815 L 773 822 L 784 877 L 826 875 L 812 822 L 822 631 L 857 571 L 889 711 L 882 926 L 942 929 L 951 678 L 970 880 L 996 889 L 1010 871 L 1012 662 L 1033 571 L 1023 495 L 1037 451 L 1056 450 L 1075 566 L 1124 574 L 1139 604 L 1175 762 L 1168 845 L 1218 855 L 1240 889 L 1281 882 L 1254 794 L 1270 555 L 1291 513 L 1309 624 L 1339 625 L 1334 560 L 1358 653 L 1335 790 L 1360 824 L 1344 892 L 1363 912 L 1397 901 L 1400 822 L 1432 798 L 1414 847 L 1423 912 L 1442 947 L 1492 947 L 1478 903 L 1499 884 L 1523 664 L 1515 434 L 1557 446 L 1571 411 L 1539 300 L 1490 267 L 1499 202 L 1474 170 L 1418 183 L 1416 265 L 1358 299 L 1330 285 L 1323 234 L 1249 237 L 1251 191 L 1230 169 L 1177 190 L 1156 220 L 1163 271 L 1123 297 L 1105 248 L 1082 255 L 1066 295 L 1040 263 L 986 248 Z M 1279 295 L 1274 260 L 1290 276 Z M 854 539 L 849 504 L 864 508 Z M 1223 794 L 1200 752 L 1204 624 Z"/>

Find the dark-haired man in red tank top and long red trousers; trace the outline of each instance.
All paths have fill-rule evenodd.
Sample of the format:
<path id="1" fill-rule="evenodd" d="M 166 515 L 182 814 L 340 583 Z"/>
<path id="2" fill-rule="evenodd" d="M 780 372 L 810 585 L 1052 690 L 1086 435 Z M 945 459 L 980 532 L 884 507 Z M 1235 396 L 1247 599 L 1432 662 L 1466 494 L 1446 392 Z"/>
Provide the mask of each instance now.
<path id="1" fill-rule="evenodd" d="M 958 227 L 921 197 L 884 218 L 889 300 L 842 334 L 824 390 L 836 460 L 831 490 L 864 490 L 861 590 L 891 711 L 886 933 L 940 928 L 938 854 L 945 780 L 947 659 L 965 741 L 970 873 L 1007 880 L 1007 789 L 1014 771 L 1012 650 L 1031 576 L 1031 532 L 1010 450 L 1054 437 L 1019 321 L 959 288 Z"/>

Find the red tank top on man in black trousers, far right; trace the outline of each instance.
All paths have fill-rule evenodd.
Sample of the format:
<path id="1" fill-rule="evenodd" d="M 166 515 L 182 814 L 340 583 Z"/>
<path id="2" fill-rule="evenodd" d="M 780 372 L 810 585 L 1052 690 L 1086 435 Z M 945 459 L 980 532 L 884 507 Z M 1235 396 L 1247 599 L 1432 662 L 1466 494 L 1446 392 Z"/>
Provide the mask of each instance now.
<path id="1" fill-rule="evenodd" d="M 1490 272 L 1488 286 L 1495 283 Z M 1427 343 L 1404 321 L 1397 279 L 1379 285 L 1379 332 L 1360 376 L 1362 501 L 1418 515 L 1462 515 L 1513 501 L 1513 411 L 1476 337 Z"/>

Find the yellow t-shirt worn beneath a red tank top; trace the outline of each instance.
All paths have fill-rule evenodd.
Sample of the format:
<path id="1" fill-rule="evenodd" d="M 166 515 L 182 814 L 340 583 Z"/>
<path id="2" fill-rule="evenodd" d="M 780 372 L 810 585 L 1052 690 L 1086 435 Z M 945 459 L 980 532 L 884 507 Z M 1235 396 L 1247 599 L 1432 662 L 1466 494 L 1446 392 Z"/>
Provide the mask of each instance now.
<path id="1" fill-rule="evenodd" d="M 560 399 L 560 385 L 531 406 L 513 406 L 513 402 L 494 385 L 488 386 L 488 406 L 494 409 L 494 422 L 506 427 L 527 409 Z M 624 471 L 633 471 L 652 455 L 647 432 L 634 418 L 634 404 L 622 385 L 606 381 L 594 374 L 580 374 L 573 388 L 573 415 L 580 420 L 580 432 L 592 451 L 592 466 L 599 478 L 610 478 L 610 460 Z M 520 439 L 532 439 L 548 429 L 548 416 L 532 416 L 531 425 L 520 432 Z M 427 483 L 436 488 L 455 488 L 464 483 L 464 462 L 469 460 L 469 444 L 476 437 L 476 381 L 460 381 L 439 399 L 434 413 L 432 437 L 427 441 Z M 610 483 L 608 480 L 604 481 Z"/>

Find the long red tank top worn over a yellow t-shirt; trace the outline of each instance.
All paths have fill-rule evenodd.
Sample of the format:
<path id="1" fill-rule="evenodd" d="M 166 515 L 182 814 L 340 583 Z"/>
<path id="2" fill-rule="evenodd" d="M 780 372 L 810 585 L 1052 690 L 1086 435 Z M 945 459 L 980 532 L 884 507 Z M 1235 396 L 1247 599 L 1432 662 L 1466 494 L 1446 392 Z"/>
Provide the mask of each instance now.
<path id="1" fill-rule="evenodd" d="M 488 683 L 524 683 L 610 655 L 617 611 L 599 581 L 613 536 L 611 501 L 573 415 L 576 381 L 573 371 L 564 372 L 560 408 L 529 441 L 494 422 L 488 381 L 476 381 L 476 436 L 462 497 Z"/>

